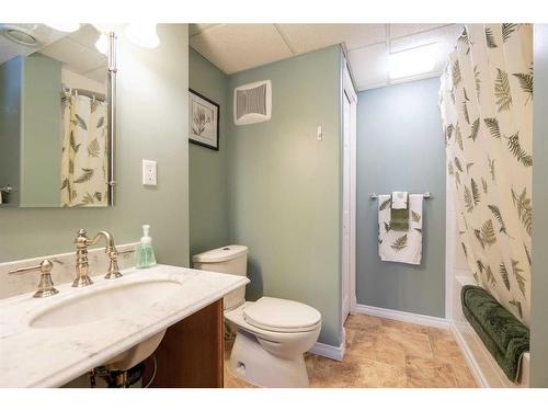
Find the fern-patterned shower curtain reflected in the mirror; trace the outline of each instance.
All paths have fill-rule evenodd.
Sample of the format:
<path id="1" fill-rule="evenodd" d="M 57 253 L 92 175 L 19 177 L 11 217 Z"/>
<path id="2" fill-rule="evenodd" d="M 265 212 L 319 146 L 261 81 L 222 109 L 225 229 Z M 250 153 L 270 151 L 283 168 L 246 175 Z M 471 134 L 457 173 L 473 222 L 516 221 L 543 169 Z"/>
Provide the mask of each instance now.
<path id="1" fill-rule="evenodd" d="M 66 95 L 61 116 L 61 205 L 104 207 L 107 205 L 106 104 L 84 95 Z"/>

